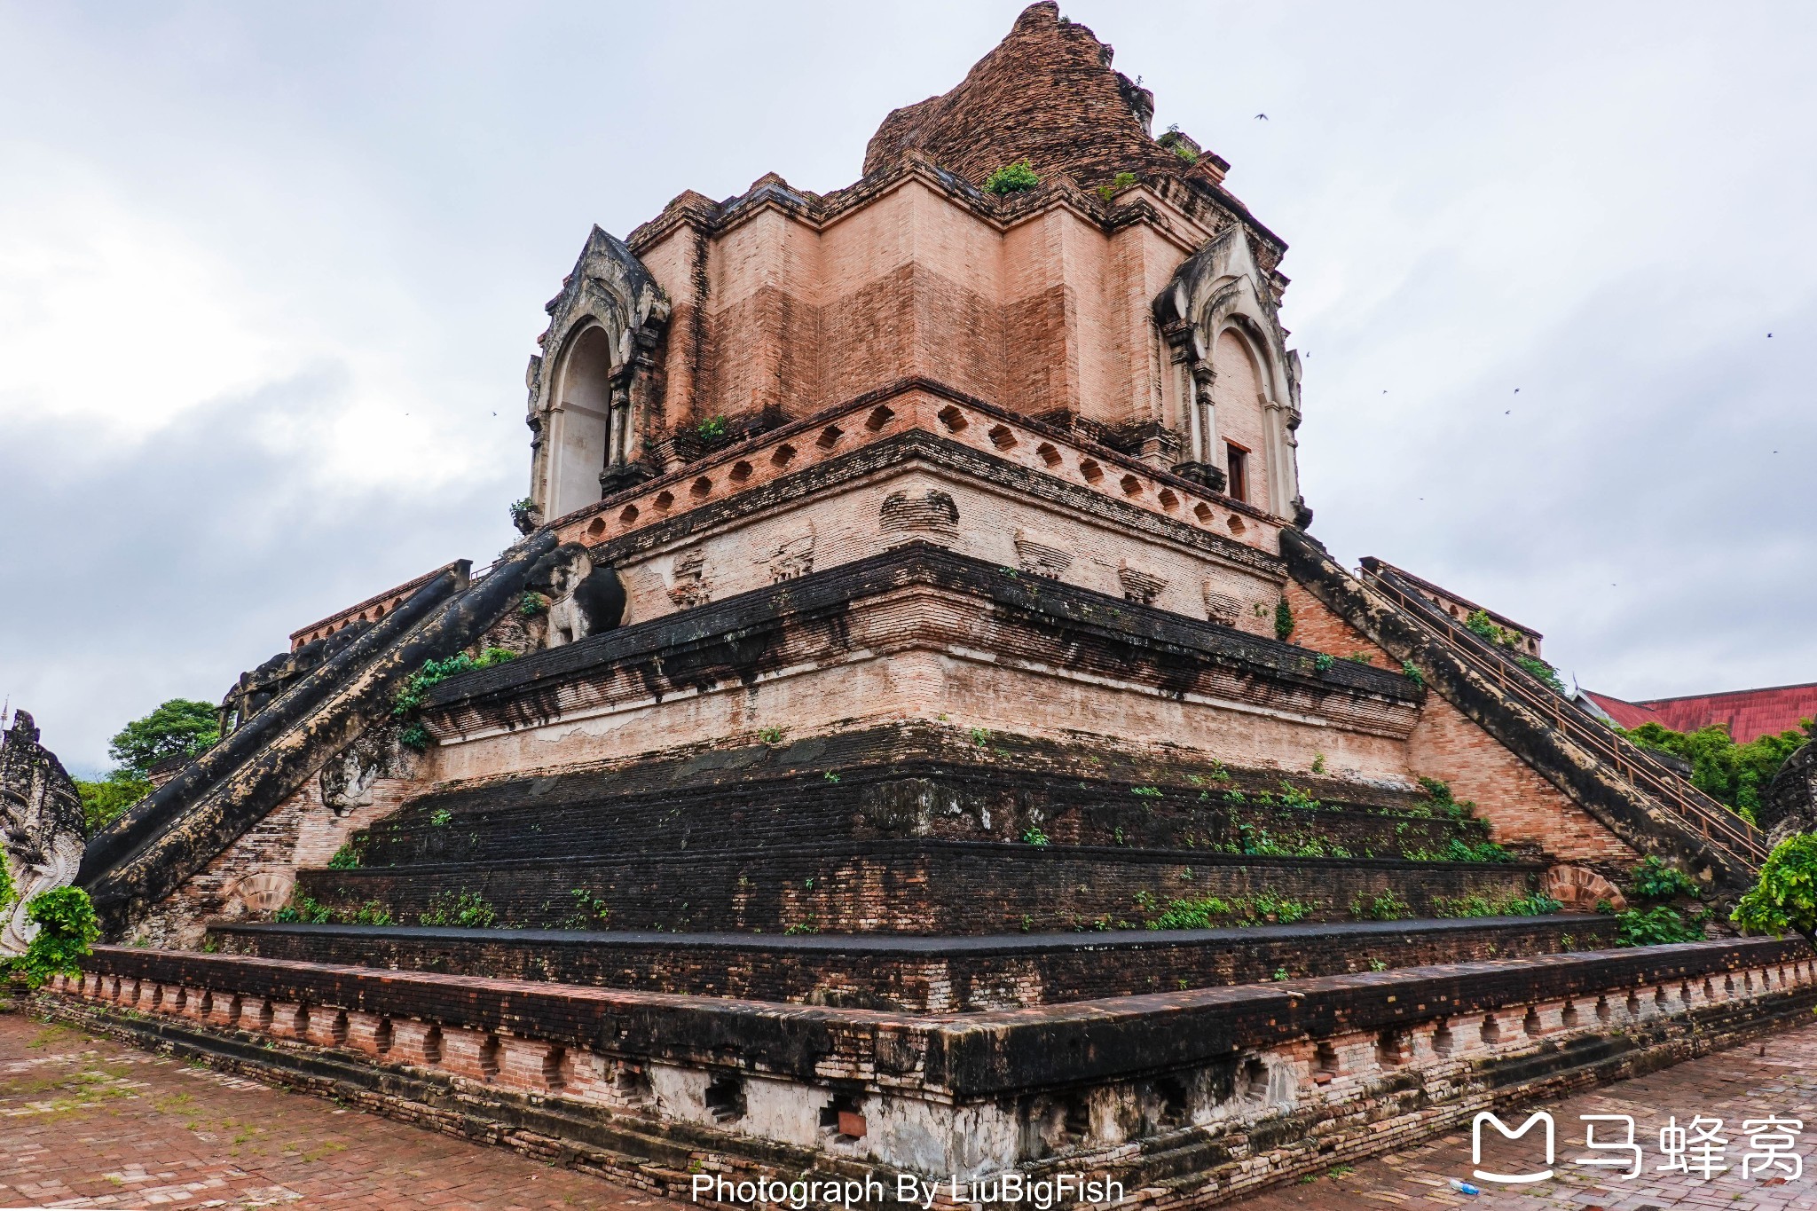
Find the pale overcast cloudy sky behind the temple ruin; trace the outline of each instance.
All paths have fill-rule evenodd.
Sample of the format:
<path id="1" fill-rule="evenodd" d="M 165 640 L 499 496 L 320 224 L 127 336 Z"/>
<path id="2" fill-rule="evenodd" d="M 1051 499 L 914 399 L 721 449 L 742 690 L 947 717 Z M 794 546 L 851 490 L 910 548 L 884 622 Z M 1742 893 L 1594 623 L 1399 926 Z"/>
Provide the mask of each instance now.
<path id="1" fill-rule="evenodd" d="M 0 0 L 0 694 L 96 773 L 489 561 L 589 225 L 850 183 L 1019 7 Z M 1341 559 L 1623 697 L 1817 681 L 1817 7 L 1063 11 L 1290 243 Z"/>

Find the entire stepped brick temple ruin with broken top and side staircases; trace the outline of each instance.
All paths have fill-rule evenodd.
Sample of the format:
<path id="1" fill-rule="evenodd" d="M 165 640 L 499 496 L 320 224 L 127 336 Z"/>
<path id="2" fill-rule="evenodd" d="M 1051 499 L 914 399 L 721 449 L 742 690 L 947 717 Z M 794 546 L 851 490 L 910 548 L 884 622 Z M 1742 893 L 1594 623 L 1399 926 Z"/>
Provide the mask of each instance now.
<path id="1" fill-rule="evenodd" d="M 1595 911 L 1755 828 L 1308 534 L 1285 243 L 1152 109 L 1036 4 L 850 187 L 594 229 L 521 541 L 243 675 L 44 1004 L 680 1196 L 1168 1207 L 1808 1017 Z"/>

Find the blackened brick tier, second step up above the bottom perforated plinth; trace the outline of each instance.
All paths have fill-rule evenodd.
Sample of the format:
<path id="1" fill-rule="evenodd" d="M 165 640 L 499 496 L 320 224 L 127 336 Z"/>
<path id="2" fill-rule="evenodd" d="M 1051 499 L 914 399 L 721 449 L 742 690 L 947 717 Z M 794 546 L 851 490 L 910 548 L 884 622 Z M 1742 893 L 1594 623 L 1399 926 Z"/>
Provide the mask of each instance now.
<path id="1" fill-rule="evenodd" d="M 1296 859 L 1230 853 L 1034 846 L 965 841 L 872 841 L 758 852 L 551 857 L 440 866 L 309 870 L 302 895 L 349 921 L 365 904 L 392 921 L 451 913 L 478 895 L 498 924 L 560 928 L 609 910 L 620 928 L 830 933 L 1016 933 L 1023 928 L 1139 926 L 1143 902 L 1254 897 L 1303 902 L 1314 921 L 1345 921 L 1354 902 L 1395 891 L 1414 915 L 1441 899 L 1490 902 L 1526 895 L 1530 864 Z"/>

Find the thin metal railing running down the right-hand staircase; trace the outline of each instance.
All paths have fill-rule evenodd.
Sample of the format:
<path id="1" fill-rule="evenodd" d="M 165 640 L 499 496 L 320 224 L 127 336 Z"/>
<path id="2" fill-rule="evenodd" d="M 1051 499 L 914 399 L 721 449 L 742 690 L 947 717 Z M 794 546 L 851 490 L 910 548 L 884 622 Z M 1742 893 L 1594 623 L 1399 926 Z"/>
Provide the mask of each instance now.
<path id="1" fill-rule="evenodd" d="M 1479 672 L 1490 672 L 1503 694 L 1543 719 L 1550 719 L 1554 728 L 1595 753 L 1643 795 L 1672 815 L 1677 815 L 1706 844 L 1724 850 L 1730 857 L 1750 868 L 1757 868 L 1766 861 L 1766 837 L 1759 828 L 1692 786 L 1675 770 L 1633 741 L 1619 735 L 1601 719 L 1577 706 L 1577 703 L 1543 686 L 1508 652 L 1483 639 L 1483 635 L 1448 615 L 1417 590 L 1397 585 L 1395 579 L 1394 572 L 1365 570 L 1363 574 L 1363 583 L 1372 592 L 1399 606 L 1403 614 L 1412 614 L 1414 621 L 1421 623 L 1425 630 L 1435 634 L 1448 648 L 1475 665 Z"/>

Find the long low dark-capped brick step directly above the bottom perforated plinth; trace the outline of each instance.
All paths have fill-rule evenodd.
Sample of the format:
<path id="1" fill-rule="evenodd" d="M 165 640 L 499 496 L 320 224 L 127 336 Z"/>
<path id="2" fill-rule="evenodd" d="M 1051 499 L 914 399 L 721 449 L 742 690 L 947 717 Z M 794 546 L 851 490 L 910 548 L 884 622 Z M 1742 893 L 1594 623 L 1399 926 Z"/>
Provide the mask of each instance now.
<path id="1" fill-rule="evenodd" d="M 223 953 L 954 1013 L 1613 946 L 1615 919 L 1368 921 L 1028 937 L 216 926 Z"/>

